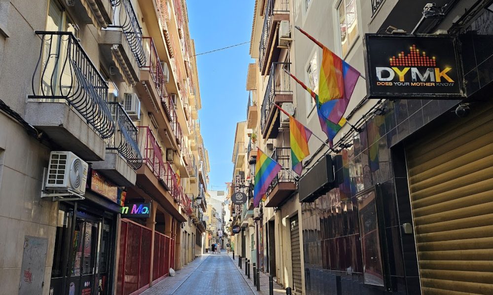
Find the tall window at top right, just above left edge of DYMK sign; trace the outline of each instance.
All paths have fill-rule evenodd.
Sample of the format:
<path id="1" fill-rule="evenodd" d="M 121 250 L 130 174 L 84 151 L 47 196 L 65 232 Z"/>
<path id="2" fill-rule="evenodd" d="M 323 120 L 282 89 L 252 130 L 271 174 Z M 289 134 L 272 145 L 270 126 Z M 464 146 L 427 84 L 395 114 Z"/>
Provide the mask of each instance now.
<path id="1" fill-rule="evenodd" d="M 358 14 L 355 0 L 342 0 L 337 8 L 341 30 L 342 56 L 345 57 L 354 44 L 358 31 Z"/>

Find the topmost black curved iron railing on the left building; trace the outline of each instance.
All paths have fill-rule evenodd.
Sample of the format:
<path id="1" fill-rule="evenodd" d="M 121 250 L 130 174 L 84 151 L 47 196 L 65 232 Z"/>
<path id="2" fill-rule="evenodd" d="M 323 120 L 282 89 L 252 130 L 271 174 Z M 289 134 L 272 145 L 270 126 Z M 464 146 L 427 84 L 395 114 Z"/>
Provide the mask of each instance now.
<path id="1" fill-rule="evenodd" d="M 113 26 L 108 28 L 120 28 L 127 39 L 128 45 L 134 54 L 139 67 L 145 65 L 145 52 L 142 46 L 142 28 L 139 19 L 132 7 L 131 0 L 111 0 L 113 6 Z"/>

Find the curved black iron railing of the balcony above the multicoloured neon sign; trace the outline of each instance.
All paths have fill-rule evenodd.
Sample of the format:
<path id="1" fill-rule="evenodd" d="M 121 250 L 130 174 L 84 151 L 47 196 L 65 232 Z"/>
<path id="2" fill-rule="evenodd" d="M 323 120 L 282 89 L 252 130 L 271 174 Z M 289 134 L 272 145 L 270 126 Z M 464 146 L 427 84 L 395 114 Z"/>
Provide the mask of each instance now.
<path id="1" fill-rule="evenodd" d="M 107 149 L 116 149 L 135 170 L 142 166 L 142 156 L 137 144 L 138 129 L 118 102 L 108 103 L 113 116 L 116 132 L 108 142 Z"/>

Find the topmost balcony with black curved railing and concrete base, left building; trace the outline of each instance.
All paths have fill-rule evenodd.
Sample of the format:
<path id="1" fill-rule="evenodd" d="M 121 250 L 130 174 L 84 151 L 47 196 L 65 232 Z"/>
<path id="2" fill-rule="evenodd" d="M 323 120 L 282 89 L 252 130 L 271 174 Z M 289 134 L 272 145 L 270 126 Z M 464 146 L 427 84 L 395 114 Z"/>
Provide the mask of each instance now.
<path id="1" fill-rule="evenodd" d="M 135 85 L 145 65 L 142 29 L 131 0 L 110 1 L 113 24 L 101 31 L 98 43 L 105 59 L 118 69 L 120 82 Z"/>

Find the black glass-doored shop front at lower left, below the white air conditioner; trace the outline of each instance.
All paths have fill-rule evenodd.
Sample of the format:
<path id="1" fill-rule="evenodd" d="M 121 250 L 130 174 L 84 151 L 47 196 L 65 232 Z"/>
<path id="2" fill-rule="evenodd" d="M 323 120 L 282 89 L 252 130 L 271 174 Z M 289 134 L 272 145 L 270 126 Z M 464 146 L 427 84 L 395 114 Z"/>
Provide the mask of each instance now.
<path id="1" fill-rule="evenodd" d="M 125 192 L 92 171 L 84 200 L 60 202 L 50 295 L 109 295 Z"/>

